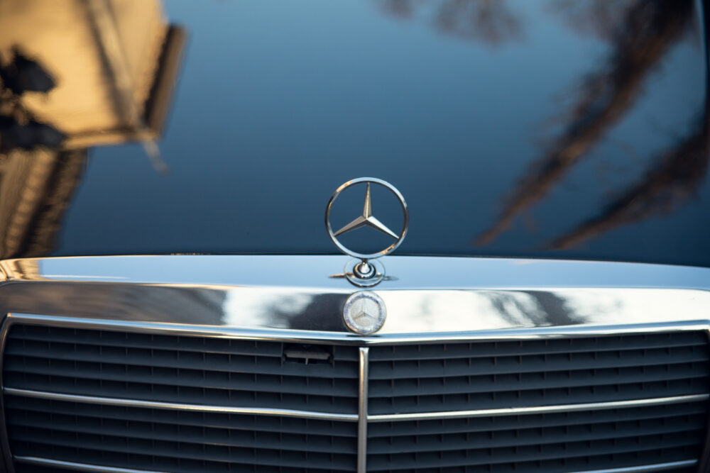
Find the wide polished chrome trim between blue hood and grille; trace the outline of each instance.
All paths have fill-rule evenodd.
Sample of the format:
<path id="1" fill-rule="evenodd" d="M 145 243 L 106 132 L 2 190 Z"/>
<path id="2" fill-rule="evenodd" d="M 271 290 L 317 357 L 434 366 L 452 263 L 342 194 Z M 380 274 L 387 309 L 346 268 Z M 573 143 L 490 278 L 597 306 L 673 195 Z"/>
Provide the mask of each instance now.
<path id="1" fill-rule="evenodd" d="M 396 279 L 374 291 L 388 316 L 381 330 L 362 337 L 342 321 L 344 301 L 359 289 L 330 277 L 345 262 L 339 256 L 6 260 L 0 311 L 255 339 L 268 330 L 276 338 L 353 344 L 515 339 L 532 329 L 542 331 L 528 335 L 561 329 L 574 336 L 591 327 L 587 335 L 675 330 L 678 323 L 710 328 L 709 268 L 388 257 Z"/>

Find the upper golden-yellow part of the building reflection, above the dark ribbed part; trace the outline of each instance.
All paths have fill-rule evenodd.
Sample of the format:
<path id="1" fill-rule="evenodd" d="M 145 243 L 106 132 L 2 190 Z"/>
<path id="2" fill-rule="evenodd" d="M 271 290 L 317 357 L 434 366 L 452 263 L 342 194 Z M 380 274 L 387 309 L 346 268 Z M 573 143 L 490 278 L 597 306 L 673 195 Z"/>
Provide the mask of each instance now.
<path id="1" fill-rule="evenodd" d="M 17 47 L 55 79 L 23 105 L 66 148 L 157 138 L 185 36 L 159 0 L 4 1 L 0 32 L 2 57 Z"/>

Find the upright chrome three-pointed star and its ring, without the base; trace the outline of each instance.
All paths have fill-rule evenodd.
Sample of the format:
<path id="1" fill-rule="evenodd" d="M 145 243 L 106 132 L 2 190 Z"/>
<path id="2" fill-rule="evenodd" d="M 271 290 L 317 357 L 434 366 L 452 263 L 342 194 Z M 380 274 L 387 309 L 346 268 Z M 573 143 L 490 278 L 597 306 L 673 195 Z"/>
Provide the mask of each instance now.
<path id="1" fill-rule="evenodd" d="M 347 226 L 344 228 L 341 228 L 338 230 L 338 232 L 334 232 L 332 226 L 330 225 L 330 211 L 333 207 L 333 204 L 335 202 L 335 199 L 348 187 L 354 186 L 355 184 L 360 184 L 360 183 L 366 183 L 367 184 L 367 191 L 365 194 L 365 206 L 363 210 L 363 215 L 359 216 L 356 218 L 354 221 L 349 223 Z M 399 235 L 395 234 L 384 226 L 380 221 L 378 221 L 376 218 L 371 216 L 371 207 L 370 207 L 370 184 L 378 184 L 382 187 L 385 187 L 389 191 L 392 192 L 392 194 L 395 194 L 395 197 L 397 197 L 400 206 L 402 206 L 402 211 L 404 213 L 404 223 L 402 226 L 402 230 L 399 233 Z M 409 228 L 409 210 L 407 208 L 407 203 L 404 200 L 404 197 L 402 194 L 400 194 L 400 191 L 397 190 L 396 187 L 394 187 L 392 184 L 389 182 L 383 181 L 382 179 L 377 179 L 376 177 L 359 177 L 358 179 L 351 179 L 350 181 L 346 182 L 345 184 L 342 184 L 342 186 L 338 187 L 333 195 L 331 196 L 330 200 L 328 201 L 328 205 L 325 208 L 325 226 L 328 230 L 328 235 L 330 236 L 330 239 L 333 240 L 333 243 L 335 246 L 338 247 L 338 249 L 342 252 L 344 252 L 346 255 L 350 255 L 352 257 L 360 258 L 361 260 L 367 261 L 367 260 L 374 260 L 379 257 L 383 257 L 386 255 L 389 255 L 391 252 L 397 249 L 397 247 L 402 243 L 404 240 L 405 236 L 407 235 L 407 230 Z M 346 233 L 350 230 L 354 230 L 355 228 L 359 228 L 361 226 L 372 226 L 373 228 L 376 228 L 377 230 L 382 231 L 383 233 L 386 233 L 388 235 L 392 235 L 394 238 L 397 238 L 394 243 L 386 247 L 384 250 L 378 251 L 376 253 L 359 253 L 353 250 L 350 250 L 348 247 L 340 243 L 337 239 L 337 235 L 340 235 L 342 233 Z M 348 228 L 351 227 L 351 228 Z"/>

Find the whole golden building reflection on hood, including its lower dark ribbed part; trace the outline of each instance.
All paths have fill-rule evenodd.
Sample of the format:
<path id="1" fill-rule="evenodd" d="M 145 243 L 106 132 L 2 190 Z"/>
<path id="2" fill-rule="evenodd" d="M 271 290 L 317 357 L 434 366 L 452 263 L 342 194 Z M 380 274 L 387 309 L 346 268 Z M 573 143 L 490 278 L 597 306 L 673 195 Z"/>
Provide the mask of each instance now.
<path id="1" fill-rule="evenodd" d="M 158 138 L 184 39 L 160 0 L 0 2 L 0 71 L 19 57 L 49 78 L 18 91 L 0 74 L 0 258 L 53 250 L 87 148 Z"/>

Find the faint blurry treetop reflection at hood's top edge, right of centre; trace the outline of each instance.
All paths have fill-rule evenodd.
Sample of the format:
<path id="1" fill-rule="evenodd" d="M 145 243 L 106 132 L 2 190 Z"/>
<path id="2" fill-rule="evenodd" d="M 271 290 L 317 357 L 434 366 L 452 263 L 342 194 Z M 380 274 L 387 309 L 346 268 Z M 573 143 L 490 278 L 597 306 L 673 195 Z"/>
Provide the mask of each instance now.
<path id="1" fill-rule="evenodd" d="M 417 10 L 434 11 L 434 26 L 442 33 L 500 45 L 520 38 L 518 17 L 503 0 L 381 0 L 386 13 L 411 18 Z"/>

